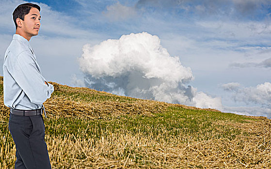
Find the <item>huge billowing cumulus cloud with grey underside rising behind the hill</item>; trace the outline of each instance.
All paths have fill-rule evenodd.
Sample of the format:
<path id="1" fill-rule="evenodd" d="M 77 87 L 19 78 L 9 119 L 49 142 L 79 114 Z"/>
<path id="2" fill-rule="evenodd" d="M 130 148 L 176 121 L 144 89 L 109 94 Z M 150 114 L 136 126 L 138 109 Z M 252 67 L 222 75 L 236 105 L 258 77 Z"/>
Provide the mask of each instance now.
<path id="1" fill-rule="evenodd" d="M 90 88 L 204 108 L 222 107 L 219 98 L 187 84 L 194 78 L 191 69 L 184 67 L 179 57 L 170 56 L 158 36 L 131 33 L 95 46 L 86 44 L 82 51 L 80 69 Z"/>

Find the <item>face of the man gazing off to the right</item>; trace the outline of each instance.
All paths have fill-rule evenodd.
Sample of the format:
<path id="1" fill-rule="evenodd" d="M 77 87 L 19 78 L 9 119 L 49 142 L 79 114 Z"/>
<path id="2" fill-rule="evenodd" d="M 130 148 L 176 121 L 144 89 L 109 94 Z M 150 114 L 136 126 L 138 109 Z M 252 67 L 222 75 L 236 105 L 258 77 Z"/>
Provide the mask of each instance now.
<path id="1" fill-rule="evenodd" d="M 29 13 L 24 16 L 22 30 L 27 37 L 36 36 L 40 29 L 40 12 L 37 8 L 31 8 Z"/>

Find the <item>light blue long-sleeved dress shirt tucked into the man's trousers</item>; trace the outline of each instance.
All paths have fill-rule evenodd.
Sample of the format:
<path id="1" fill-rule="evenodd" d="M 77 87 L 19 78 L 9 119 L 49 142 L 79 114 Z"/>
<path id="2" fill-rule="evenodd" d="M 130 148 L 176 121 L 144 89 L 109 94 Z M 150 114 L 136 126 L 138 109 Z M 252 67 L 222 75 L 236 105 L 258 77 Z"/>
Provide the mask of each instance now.
<path id="1" fill-rule="evenodd" d="M 18 34 L 6 50 L 3 75 L 4 104 L 13 109 L 40 109 L 54 91 L 52 84 L 45 84 L 29 42 Z"/>

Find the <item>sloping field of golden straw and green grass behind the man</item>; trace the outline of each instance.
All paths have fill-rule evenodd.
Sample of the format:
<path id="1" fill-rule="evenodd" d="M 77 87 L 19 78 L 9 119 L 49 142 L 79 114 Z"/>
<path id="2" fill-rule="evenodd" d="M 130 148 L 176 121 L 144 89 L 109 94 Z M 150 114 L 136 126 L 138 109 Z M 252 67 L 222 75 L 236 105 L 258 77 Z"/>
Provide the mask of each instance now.
<path id="1" fill-rule="evenodd" d="M 51 83 L 45 102 L 53 169 L 271 168 L 271 121 Z M 0 77 L 0 169 L 13 168 Z"/>

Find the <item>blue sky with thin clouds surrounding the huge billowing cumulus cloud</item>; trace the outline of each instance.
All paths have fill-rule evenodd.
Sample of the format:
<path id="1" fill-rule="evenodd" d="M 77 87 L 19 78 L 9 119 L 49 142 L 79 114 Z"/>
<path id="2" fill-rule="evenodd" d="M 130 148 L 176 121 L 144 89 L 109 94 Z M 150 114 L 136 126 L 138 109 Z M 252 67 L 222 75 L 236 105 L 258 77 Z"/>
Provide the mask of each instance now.
<path id="1" fill-rule="evenodd" d="M 12 40 L 12 12 L 24 0 L 0 0 L 0 52 Z M 48 81 L 84 86 L 78 58 L 130 33 L 157 35 L 194 76 L 186 85 L 224 112 L 271 113 L 271 0 L 34 0 L 41 29 L 30 41 Z M 2 63 L 2 59 L 0 60 Z M 2 70 L 0 71 L 2 74 Z"/>

